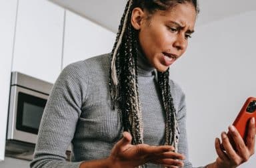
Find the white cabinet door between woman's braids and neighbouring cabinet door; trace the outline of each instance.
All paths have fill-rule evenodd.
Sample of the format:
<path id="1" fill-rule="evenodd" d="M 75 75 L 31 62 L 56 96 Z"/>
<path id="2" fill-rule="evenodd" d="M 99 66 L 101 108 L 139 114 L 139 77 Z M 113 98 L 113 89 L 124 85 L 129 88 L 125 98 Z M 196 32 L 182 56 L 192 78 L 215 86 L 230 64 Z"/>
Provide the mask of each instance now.
<path id="1" fill-rule="evenodd" d="M 111 52 L 115 33 L 66 11 L 63 68 L 72 62 Z"/>

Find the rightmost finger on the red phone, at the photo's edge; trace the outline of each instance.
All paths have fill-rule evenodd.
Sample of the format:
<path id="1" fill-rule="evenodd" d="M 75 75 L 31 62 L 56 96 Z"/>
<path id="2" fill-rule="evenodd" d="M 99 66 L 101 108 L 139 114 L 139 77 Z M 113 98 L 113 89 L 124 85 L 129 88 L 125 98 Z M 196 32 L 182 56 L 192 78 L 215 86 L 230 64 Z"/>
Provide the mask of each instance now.
<path id="1" fill-rule="evenodd" d="M 246 137 L 247 147 L 251 152 L 251 155 L 253 155 L 255 150 L 255 134 L 256 134 L 255 118 L 251 118 L 248 135 Z"/>

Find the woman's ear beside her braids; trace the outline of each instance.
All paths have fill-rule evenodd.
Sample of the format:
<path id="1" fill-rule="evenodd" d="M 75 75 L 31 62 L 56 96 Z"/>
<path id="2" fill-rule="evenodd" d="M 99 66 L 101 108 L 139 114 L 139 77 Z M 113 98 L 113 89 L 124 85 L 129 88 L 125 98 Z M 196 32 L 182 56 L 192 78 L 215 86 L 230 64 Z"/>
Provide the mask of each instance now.
<path id="1" fill-rule="evenodd" d="M 145 13 L 140 7 L 135 7 L 131 13 L 131 25 L 133 25 L 134 29 L 137 31 L 141 29 L 141 23 L 143 18 L 145 17 Z"/>

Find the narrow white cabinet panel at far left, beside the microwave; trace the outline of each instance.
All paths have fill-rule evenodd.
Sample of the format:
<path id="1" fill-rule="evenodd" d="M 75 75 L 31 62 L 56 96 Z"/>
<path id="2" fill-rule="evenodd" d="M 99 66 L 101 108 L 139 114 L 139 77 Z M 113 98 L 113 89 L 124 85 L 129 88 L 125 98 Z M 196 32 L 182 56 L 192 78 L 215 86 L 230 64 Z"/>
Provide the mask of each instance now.
<path id="1" fill-rule="evenodd" d="M 0 161 L 5 154 L 16 9 L 17 0 L 0 1 Z"/>

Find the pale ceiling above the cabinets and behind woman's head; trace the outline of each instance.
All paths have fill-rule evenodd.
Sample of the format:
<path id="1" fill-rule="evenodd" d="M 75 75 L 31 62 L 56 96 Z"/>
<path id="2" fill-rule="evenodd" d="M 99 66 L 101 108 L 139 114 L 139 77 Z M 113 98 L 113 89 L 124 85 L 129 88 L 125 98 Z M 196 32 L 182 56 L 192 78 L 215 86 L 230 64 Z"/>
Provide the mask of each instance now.
<path id="1" fill-rule="evenodd" d="M 117 32 L 127 0 L 49 0 L 102 27 Z M 255 0 L 199 0 L 197 25 L 256 10 Z M 256 16 L 255 16 L 256 18 Z"/>

